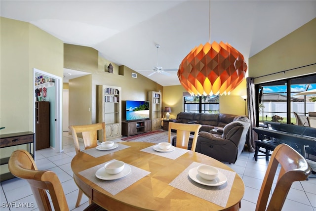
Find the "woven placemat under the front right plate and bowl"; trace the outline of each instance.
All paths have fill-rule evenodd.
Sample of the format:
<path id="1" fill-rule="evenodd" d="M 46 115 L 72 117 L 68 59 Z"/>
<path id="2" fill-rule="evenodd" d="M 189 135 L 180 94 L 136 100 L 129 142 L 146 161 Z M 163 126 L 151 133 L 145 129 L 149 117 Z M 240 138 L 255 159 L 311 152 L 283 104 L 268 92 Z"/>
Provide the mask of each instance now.
<path id="1" fill-rule="evenodd" d="M 206 186 L 193 181 L 189 177 L 189 170 L 198 167 L 199 165 L 201 164 L 193 162 L 187 169 L 182 171 L 179 176 L 170 182 L 169 185 L 225 208 L 231 193 L 236 172 L 218 168 L 219 171 L 226 176 L 227 182 L 219 186 Z"/>

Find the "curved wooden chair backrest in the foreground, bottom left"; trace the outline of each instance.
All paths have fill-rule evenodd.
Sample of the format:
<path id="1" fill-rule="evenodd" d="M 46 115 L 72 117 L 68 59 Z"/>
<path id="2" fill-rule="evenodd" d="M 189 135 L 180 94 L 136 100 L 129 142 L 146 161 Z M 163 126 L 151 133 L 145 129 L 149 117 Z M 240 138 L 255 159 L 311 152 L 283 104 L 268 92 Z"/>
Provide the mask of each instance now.
<path id="1" fill-rule="evenodd" d="M 8 167 L 14 176 L 29 182 L 40 211 L 52 210 L 46 190 L 49 191 L 55 211 L 69 211 L 65 193 L 57 175 L 50 170 L 38 170 L 29 152 L 14 151 L 9 159 Z"/>

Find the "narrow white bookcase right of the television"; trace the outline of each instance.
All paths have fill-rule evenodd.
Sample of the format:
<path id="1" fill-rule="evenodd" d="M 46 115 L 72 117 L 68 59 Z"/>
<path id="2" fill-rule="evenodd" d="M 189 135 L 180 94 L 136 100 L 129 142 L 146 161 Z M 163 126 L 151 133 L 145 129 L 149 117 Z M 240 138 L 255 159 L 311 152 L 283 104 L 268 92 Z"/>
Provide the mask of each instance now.
<path id="1" fill-rule="evenodd" d="M 148 100 L 150 104 L 150 119 L 152 121 L 152 130 L 161 129 L 161 92 L 149 91 Z"/>

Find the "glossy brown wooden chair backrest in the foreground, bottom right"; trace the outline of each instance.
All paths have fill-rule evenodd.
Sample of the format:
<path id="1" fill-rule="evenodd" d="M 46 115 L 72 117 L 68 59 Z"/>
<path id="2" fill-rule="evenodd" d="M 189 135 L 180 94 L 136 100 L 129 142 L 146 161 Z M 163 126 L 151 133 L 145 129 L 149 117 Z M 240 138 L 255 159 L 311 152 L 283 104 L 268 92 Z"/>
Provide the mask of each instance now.
<path id="1" fill-rule="evenodd" d="M 276 175 L 278 165 L 279 171 L 276 187 L 267 207 L 271 186 Z M 272 153 L 271 160 L 266 171 L 256 211 L 280 211 L 283 207 L 287 193 L 294 181 L 303 181 L 308 178 L 311 168 L 306 159 L 297 151 L 286 144 L 279 144 Z"/>

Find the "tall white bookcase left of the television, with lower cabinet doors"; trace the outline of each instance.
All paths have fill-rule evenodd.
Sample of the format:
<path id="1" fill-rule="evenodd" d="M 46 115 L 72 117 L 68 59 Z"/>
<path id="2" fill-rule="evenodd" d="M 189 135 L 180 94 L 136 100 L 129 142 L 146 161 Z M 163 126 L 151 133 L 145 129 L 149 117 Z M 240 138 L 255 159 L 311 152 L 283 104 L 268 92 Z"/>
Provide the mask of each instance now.
<path id="1" fill-rule="evenodd" d="M 120 138 L 121 135 L 121 88 L 98 85 L 98 118 L 105 122 L 106 138 L 99 131 L 99 140 Z"/>

